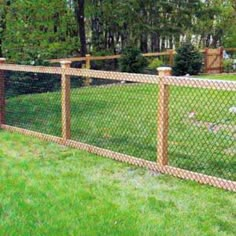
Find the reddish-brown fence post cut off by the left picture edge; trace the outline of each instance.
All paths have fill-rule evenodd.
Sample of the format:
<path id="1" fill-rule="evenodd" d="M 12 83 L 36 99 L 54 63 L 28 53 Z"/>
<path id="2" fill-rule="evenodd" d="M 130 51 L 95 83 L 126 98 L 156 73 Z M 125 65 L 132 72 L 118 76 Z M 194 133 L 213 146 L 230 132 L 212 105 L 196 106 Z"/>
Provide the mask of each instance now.
<path id="1" fill-rule="evenodd" d="M 0 58 L 0 64 L 4 64 L 5 62 L 5 58 Z M 0 71 L 0 126 L 5 124 L 5 106 L 5 78 L 4 71 Z"/>

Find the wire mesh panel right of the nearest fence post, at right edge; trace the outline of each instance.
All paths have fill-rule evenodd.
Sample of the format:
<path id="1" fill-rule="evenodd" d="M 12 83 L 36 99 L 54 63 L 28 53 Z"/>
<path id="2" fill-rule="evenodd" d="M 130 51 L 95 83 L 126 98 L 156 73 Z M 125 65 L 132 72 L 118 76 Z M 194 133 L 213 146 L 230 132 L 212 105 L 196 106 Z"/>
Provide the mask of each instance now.
<path id="1" fill-rule="evenodd" d="M 170 94 L 170 165 L 236 180 L 235 92 L 172 87 Z"/>

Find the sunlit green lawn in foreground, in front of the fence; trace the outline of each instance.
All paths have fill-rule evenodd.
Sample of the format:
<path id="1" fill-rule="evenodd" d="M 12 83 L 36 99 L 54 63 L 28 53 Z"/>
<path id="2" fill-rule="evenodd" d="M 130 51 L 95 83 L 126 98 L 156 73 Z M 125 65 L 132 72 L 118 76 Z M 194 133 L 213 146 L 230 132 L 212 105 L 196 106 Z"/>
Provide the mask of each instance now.
<path id="1" fill-rule="evenodd" d="M 236 198 L 0 131 L 0 235 L 236 235 Z"/>

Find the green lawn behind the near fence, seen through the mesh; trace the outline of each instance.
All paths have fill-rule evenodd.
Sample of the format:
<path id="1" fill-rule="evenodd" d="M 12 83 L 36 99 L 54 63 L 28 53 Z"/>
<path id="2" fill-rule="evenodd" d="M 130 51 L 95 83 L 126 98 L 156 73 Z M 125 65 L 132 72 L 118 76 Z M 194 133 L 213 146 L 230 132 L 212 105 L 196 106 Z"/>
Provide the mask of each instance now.
<path id="1" fill-rule="evenodd" d="M 209 77 L 236 80 L 235 75 Z M 156 85 L 74 88 L 72 139 L 156 161 L 157 97 Z M 171 87 L 170 164 L 236 180 L 233 106 L 235 92 Z M 188 118 L 191 112 L 196 113 L 194 121 Z M 60 93 L 8 99 L 7 124 L 60 136 Z"/>

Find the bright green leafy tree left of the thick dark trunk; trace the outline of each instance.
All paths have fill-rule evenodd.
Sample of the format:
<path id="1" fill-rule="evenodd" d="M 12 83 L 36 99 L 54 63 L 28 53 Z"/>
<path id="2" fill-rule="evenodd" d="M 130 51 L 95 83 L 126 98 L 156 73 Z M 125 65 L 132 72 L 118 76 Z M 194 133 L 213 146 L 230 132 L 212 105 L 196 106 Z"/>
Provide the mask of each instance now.
<path id="1" fill-rule="evenodd" d="M 6 14 L 3 52 L 8 59 L 38 64 L 66 57 L 79 47 L 76 21 L 66 0 L 15 0 Z"/>

